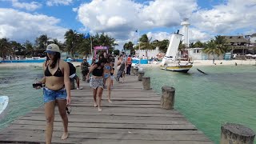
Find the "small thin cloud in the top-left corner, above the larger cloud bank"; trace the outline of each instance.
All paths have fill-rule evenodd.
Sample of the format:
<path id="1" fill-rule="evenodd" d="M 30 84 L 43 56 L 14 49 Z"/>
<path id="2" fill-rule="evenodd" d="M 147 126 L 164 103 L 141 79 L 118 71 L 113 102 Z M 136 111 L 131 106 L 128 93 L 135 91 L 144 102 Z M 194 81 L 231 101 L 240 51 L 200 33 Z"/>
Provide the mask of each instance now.
<path id="1" fill-rule="evenodd" d="M 18 0 L 2 0 L 3 2 L 12 2 L 12 6 L 18 9 L 25 9 L 29 11 L 37 10 L 42 6 L 39 2 L 19 2 Z"/>

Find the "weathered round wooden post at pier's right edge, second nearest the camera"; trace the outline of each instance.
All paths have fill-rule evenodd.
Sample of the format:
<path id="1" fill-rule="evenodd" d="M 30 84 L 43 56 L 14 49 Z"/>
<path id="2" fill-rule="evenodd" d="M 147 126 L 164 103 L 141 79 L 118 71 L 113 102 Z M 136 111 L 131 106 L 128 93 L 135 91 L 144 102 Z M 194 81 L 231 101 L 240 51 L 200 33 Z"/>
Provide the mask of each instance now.
<path id="1" fill-rule="evenodd" d="M 175 89 L 170 86 L 162 86 L 161 106 L 163 109 L 174 109 Z"/>

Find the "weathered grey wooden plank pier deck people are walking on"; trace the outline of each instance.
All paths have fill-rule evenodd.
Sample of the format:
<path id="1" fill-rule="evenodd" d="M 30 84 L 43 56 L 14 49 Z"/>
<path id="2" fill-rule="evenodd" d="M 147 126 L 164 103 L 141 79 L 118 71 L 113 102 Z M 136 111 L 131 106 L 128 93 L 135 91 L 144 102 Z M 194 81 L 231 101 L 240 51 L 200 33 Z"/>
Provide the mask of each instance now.
<path id="1" fill-rule="evenodd" d="M 89 84 L 84 90 L 71 90 L 70 136 L 61 140 L 62 119 L 55 108 L 53 143 L 86 144 L 212 144 L 209 138 L 177 110 L 163 110 L 159 94 L 142 90 L 137 76 L 125 83 L 114 82 L 113 103 L 102 95 L 102 112 L 94 107 Z M 43 107 L 18 118 L 0 131 L 0 143 L 44 143 Z"/>

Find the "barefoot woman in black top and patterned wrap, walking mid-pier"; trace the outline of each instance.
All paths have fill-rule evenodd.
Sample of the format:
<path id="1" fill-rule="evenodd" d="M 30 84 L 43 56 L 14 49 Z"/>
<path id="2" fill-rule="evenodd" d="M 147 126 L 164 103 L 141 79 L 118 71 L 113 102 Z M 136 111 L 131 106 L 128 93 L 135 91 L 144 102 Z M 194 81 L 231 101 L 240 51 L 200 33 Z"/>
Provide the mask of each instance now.
<path id="1" fill-rule="evenodd" d="M 92 78 L 90 81 L 90 87 L 93 90 L 94 96 L 94 107 L 98 106 L 98 111 L 102 111 L 102 92 L 104 89 L 103 76 L 104 76 L 104 65 L 106 64 L 106 58 L 101 58 L 94 65 L 90 66 L 89 74 L 87 74 L 87 81 L 89 80 L 89 75 L 92 73 Z M 98 95 L 98 102 L 97 102 Z"/>

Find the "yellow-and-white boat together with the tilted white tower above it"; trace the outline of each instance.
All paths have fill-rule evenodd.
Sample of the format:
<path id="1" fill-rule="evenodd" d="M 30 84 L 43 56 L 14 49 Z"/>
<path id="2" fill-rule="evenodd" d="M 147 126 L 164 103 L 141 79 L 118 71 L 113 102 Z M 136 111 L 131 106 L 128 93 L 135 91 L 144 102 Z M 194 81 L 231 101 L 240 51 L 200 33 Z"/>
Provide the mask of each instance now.
<path id="1" fill-rule="evenodd" d="M 186 73 L 193 66 L 193 63 L 180 61 L 184 58 L 178 58 L 178 46 L 182 39 L 182 34 L 178 34 L 178 32 L 179 30 L 170 36 L 170 43 L 166 55 L 162 58 L 161 69 Z"/>

